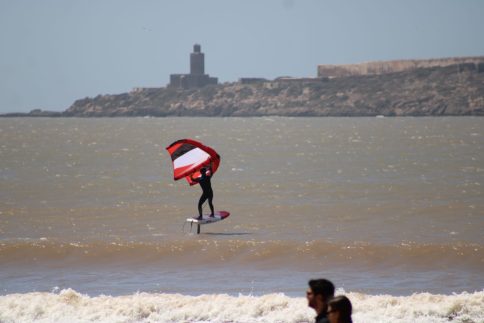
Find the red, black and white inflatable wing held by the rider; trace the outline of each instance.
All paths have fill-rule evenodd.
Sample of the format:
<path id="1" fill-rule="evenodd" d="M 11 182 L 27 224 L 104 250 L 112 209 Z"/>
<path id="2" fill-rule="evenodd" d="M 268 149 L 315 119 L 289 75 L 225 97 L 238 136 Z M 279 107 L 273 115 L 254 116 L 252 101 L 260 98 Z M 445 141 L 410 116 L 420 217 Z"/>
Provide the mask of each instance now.
<path id="1" fill-rule="evenodd" d="M 220 156 L 215 150 L 192 139 L 177 140 L 166 147 L 173 162 L 175 181 L 185 177 L 190 185 L 196 184 L 190 176 L 200 177 L 203 166 L 212 165 L 212 175 L 220 165 Z"/>

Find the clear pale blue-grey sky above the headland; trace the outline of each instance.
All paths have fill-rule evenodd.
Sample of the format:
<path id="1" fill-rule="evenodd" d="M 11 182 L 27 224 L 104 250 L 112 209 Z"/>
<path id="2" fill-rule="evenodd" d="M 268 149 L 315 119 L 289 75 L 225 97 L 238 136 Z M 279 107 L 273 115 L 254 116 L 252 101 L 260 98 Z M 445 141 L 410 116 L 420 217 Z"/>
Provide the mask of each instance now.
<path id="1" fill-rule="evenodd" d="M 0 0 L 0 113 L 189 73 L 315 77 L 318 64 L 484 55 L 483 0 Z"/>

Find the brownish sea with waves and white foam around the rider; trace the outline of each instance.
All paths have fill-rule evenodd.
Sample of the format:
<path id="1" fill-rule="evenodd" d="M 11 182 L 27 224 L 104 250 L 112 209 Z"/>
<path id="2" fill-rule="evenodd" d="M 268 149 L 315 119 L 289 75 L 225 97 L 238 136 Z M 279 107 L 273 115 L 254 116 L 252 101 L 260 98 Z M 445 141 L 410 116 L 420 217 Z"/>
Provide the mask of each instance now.
<path id="1" fill-rule="evenodd" d="M 0 322 L 484 322 L 484 119 L 0 119 Z M 224 221 L 165 147 L 221 155 Z M 205 207 L 208 211 L 208 206 Z"/>

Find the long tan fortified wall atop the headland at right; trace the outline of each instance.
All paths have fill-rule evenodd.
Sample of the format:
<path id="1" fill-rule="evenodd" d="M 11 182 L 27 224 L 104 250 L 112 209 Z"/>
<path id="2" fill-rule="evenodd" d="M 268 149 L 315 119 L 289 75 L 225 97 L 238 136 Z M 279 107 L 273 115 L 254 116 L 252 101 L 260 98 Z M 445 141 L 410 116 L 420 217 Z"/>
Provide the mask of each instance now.
<path id="1" fill-rule="evenodd" d="M 461 70 L 478 70 L 479 72 L 483 72 L 484 56 L 426 60 L 395 60 L 344 65 L 318 65 L 318 77 L 333 78 L 357 75 L 381 75 L 418 68 L 446 67 L 450 65 L 457 65 Z"/>

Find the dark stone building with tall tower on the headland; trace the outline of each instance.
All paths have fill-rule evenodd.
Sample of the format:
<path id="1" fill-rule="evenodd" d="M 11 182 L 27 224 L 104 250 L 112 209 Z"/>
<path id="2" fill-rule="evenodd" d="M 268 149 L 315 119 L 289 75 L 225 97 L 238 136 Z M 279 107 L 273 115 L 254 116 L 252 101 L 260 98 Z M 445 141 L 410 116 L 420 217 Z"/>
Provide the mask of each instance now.
<path id="1" fill-rule="evenodd" d="M 201 52 L 199 44 L 193 45 L 193 53 L 190 54 L 190 74 L 171 74 L 171 88 L 191 89 L 209 84 L 217 84 L 216 77 L 205 74 L 205 55 Z"/>

